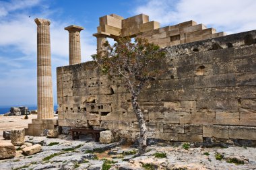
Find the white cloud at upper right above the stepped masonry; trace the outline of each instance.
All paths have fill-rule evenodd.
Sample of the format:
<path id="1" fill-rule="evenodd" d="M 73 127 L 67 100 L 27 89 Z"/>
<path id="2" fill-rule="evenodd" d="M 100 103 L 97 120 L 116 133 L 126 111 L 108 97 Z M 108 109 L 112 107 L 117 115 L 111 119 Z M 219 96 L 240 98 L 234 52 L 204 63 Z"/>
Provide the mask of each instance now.
<path id="1" fill-rule="evenodd" d="M 194 20 L 218 28 L 221 32 L 244 32 L 256 29 L 255 0 L 150 0 L 139 5 L 134 14 L 146 13 L 163 25 Z"/>

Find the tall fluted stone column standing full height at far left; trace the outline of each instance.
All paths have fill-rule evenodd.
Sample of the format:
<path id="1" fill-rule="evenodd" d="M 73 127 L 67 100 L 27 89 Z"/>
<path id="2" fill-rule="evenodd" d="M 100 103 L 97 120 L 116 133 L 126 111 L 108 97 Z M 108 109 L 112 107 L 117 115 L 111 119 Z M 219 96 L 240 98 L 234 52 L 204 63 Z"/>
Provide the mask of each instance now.
<path id="1" fill-rule="evenodd" d="M 50 24 L 34 19 L 37 25 L 37 118 L 53 118 L 53 80 L 51 72 Z"/>

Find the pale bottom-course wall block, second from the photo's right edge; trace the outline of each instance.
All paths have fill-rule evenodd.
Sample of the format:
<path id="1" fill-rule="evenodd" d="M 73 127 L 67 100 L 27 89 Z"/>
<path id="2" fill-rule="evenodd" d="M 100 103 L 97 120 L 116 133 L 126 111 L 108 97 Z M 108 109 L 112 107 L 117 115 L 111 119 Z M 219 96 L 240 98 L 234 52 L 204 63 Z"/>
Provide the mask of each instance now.
<path id="1" fill-rule="evenodd" d="M 228 138 L 228 126 L 203 125 L 203 137 Z"/>

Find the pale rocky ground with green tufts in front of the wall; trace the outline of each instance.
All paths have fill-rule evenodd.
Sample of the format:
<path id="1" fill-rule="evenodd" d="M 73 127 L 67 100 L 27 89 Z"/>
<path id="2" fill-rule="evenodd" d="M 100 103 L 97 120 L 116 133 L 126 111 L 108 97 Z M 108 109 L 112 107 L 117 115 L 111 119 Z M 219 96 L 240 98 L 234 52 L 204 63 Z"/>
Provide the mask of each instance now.
<path id="1" fill-rule="evenodd" d="M 256 148 L 193 147 L 189 143 L 157 143 L 137 157 L 137 148 L 115 142 L 100 144 L 91 136 L 71 140 L 26 136 L 26 142 L 42 144 L 42 151 L 24 156 L 18 146 L 13 159 L 0 160 L 4 169 L 256 169 Z"/>

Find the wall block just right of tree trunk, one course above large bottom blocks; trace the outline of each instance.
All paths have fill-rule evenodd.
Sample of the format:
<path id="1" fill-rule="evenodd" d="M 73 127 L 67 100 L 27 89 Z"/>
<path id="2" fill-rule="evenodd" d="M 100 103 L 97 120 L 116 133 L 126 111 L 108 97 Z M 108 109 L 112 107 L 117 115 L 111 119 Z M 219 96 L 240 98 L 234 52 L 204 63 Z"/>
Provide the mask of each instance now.
<path id="1" fill-rule="evenodd" d="M 149 112 L 150 122 L 179 124 L 179 112 Z"/>

